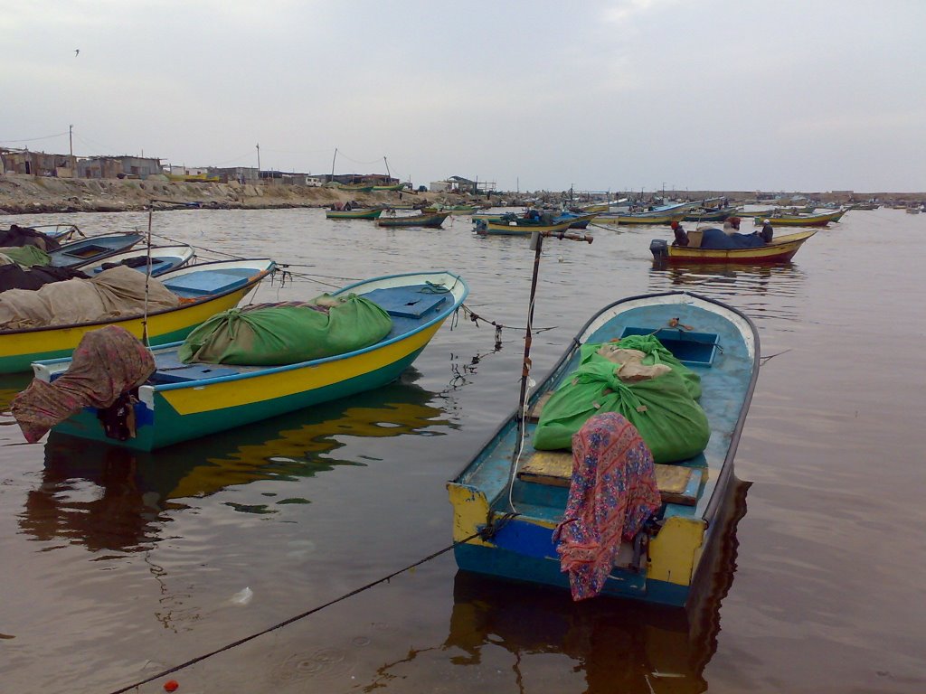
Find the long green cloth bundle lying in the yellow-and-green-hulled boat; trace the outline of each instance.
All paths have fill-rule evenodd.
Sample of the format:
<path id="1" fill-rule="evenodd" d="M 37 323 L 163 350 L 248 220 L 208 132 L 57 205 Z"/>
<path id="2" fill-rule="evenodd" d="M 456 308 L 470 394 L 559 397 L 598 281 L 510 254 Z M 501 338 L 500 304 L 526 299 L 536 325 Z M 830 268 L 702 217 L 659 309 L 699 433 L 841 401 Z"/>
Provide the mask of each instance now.
<path id="1" fill-rule="evenodd" d="M 323 294 L 307 303 L 224 311 L 194 329 L 178 356 L 184 364 L 298 364 L 369 347 L 392 326 L 389 314 L 369 299 Z"/>

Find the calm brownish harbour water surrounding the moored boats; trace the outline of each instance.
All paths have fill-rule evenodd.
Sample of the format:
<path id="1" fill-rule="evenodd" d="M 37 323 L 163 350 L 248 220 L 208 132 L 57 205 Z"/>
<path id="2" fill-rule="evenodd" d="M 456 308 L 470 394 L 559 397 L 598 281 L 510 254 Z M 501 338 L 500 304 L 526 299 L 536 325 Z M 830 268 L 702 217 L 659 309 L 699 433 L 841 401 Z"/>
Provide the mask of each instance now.
<path id="1" fill-rule="evenodd" d="M 146 229 L 142 214 L 0 217 Z M 520 239 L 384 230 L 319 210 L 156 215 L 156 235 L 270 255 L 292 281 L 459 272 L 502 330 L 444 325 L 402 382 L 326 407 L 130 454 L 24 443 L 0 378 L 0 681 L 127 687 L 414 564 L 450 543 L 444 482 L 515 407 L 533 254 Z M 779 233 L 786 233 L 780 229 Z M 753 484 L 716 589 L 688 614 L 457 575 L 447 552 L 289 626 L 161 677 L 190 692 L 921 692 L 926 690 L 926 216 L 853 211 L 789 266 L 657 270 L 669 229 L 547 242 L 541 378 L 594 311 L 688 289 L 745 310 L 762 367 L 736 460 Z M 912 301 L 910 299 L 912 298 Z M 249 589 L 250 599 L 241 600 Z M 244 602 L 244 604 L 242 604 Z"/>

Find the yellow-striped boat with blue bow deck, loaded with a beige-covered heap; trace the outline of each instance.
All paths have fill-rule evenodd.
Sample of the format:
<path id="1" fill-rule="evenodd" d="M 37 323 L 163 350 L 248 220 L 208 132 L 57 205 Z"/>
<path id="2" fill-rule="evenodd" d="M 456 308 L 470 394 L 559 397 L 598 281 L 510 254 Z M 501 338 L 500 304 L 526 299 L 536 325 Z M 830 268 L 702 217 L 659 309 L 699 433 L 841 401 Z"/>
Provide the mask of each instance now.
<path id="1" fill-rule="evenodd" d="M 238 305 L 275 268 L 268 258 L 181 267 L 158 278 L 181 297 L 181 304 L 174 308 L 152 311 L 146 317 L 0 330 L 0 374 L 29 371 L 34 361 L 69 356 L 84 334 L 107 325 L 121 326 L 139 337 L 146 329 L 153 345 L 182 340 L 207 318 Z"/>

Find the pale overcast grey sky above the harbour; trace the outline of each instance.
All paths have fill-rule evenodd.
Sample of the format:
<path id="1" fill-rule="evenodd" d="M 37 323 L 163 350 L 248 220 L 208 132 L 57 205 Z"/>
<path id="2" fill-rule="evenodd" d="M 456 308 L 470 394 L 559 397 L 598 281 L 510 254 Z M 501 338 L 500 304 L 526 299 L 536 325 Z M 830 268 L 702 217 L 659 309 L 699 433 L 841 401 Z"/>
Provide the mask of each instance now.
<path id="1" fill-rule="evenodd" d="M 923 192 L 924 31 L 926 0 L 0 0 L 0 146 L 521 192 Z"/>

